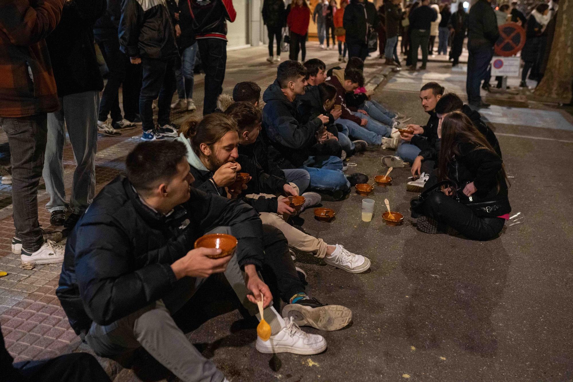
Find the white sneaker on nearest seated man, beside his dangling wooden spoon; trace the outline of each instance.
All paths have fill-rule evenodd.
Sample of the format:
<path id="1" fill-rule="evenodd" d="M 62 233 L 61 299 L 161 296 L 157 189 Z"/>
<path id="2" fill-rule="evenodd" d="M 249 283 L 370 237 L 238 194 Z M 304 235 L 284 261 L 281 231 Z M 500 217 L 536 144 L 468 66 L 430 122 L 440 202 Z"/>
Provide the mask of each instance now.
<path id="1" fill-rule="evenodd" d="M 257 336 L 255 347 L 258 352 L 264 354 L 293 353 L 293 354 L 318 354 L 326 350 L 326 340 L 319 334 L 304 333 L 299 325 L 293 322 L 292 317 L 285 319 L 285 326 L 280 332 L 270 336 L 267 341 Z"/>

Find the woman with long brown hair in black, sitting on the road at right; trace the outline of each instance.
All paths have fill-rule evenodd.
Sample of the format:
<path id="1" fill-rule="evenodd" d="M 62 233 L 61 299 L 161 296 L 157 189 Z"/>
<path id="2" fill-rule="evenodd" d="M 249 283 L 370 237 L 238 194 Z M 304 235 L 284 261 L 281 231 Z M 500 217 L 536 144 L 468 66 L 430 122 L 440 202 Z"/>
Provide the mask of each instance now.
<path id="1" fill-rule="evenodd" d="M 445 116 L 438 137 L 437 180 L 450 185 L 427 194 L 418 229 L 440 233 L 453 228 L 474 240 L 497 237 L 511 212 L 503 161 L 462 112 Z"/>

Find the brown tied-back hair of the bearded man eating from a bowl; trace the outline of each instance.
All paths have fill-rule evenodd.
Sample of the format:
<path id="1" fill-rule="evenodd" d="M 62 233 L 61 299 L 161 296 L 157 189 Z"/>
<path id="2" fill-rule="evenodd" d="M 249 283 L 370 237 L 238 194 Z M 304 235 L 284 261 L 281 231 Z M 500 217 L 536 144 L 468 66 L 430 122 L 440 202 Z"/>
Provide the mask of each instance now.
<path id="1" fill-rule="evenodd" d="M 189 139 L 191 147 L 198 157 L 203 155 L 199 148 L 201 143 L 212 147 L 230 131 L 235 131 L 238 134 L 237 121 L 222 113 L 209 114 L 203 119 L 192 116 L 187 118 L 179 128 L 179 134 Z"/>

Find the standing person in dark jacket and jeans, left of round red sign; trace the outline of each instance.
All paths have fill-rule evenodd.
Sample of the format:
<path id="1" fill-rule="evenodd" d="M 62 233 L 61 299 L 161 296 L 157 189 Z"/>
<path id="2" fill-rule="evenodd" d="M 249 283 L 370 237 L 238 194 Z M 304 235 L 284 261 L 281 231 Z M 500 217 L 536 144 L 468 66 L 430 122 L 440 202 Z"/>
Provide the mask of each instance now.
<path id="1" fill-rule="evenodd" d="M 481 81 L 485 79 L 489 61 L 493 56 L 493 44 L 500 36 L 496 14 L 490 0 L 478 0 L 468 15 L 468 76 L 466 92 L 469 105 L 474 108 L 489 107 L 480 96 Z"/>

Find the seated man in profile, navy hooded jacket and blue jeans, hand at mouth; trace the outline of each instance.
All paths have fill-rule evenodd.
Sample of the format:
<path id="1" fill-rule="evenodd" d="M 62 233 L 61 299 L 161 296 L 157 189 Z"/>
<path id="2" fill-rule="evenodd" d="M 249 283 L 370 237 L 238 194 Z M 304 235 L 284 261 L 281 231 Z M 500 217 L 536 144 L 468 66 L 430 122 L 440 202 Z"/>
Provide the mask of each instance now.
<path id="1" fill-rule="evenodd" d="M 302 123 L 295 99 L 305 92 L 306 70 L 297 61 L 278 65 L 277 79 L 263 94 L 266 102 L 262 110 L 264 141 L 272 145 L 274 159 L 282 169 L 304 169 L 311 176 L 311 188 L 342 199 L 350 192 L 350 182 L 342 172 L 342 159 L 333 156 L 311 155 L 316 134 L 329 118 L 319 115 Z"/>

